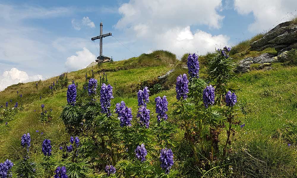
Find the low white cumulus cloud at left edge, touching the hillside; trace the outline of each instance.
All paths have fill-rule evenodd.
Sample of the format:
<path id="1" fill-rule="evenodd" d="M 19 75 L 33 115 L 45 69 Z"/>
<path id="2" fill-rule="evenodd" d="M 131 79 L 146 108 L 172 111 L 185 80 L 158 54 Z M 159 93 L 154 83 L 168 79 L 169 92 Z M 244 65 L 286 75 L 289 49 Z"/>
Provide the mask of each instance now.
<path id="1" fill-rule="evenodd" d="M 0 90 L 4 90 L 8 86 L 18 84 L 20 82 L 24 83 L 42 79 L 42 75 L 29 76 L 25 71 L 12 68 L 10 71 L 4 71 L 2 76 L 0 76 Z"/>

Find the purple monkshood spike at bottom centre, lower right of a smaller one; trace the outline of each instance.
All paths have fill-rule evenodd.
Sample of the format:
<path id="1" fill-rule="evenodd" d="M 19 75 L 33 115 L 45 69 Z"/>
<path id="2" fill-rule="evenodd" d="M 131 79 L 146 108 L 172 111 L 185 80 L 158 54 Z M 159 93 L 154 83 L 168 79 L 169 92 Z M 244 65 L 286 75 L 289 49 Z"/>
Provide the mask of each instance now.
<path id="1" fill-rule="evenodd" d="M 160 152 L 161 168 L 165 170 L 165 174 L 169 174 L 171 166 L 173 166 L 173 152 L 171 149 L 162 149 Z"/>

